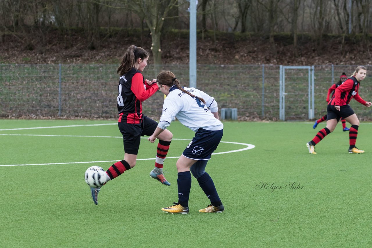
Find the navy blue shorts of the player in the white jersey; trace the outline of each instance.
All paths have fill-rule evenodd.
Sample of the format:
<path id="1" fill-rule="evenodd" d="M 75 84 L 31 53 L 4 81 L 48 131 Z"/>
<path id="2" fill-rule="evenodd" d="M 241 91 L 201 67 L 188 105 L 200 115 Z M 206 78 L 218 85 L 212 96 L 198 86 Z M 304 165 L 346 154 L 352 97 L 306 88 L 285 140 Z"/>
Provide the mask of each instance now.
<path id="1" fill-rule="evenodd" d="M 224 134 L 224 129 L 209 131 L 199 128 L 182 155 L 193 160 L 209 160 L 212 153 L 217 149 Z"/>

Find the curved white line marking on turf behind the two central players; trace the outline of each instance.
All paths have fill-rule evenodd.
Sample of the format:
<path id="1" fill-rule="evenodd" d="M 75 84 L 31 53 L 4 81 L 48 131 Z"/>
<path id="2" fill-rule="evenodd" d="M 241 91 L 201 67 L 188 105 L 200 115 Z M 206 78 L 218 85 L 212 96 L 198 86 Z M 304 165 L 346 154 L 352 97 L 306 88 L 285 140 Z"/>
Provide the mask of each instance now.
<path id="1" fill-rule="evenodd" d="M 122 138 L 118 136 L 90 136 L 90 135 L 44 135 L 44 134 L 6 134 L 6 133 L 0 133 L 0 135 L 16 135 L 16 136 L 49 136 L 49 137 L 86 137 L 86 138 Z M 141 137 L 141 139 L 147 139 L 145 137 Z M 172 140 L 182 140 L 182 141 L 190 141 L 190 139 L 172 139 Z M 221 141 L 221 143 L 228 143 L 228 144 L 237 144 L 237 145 L 245 145 L 247 147 L 238 149 L 238 150 L 232 150 L 227 152 L 216 152 L 212 155 L 217 154 L 225 154 L 225 153 L 231 153 L 231 152 L 241 152 L 245 150 L 249 150 L 254 148 L 254 145 L 251 144 L 245 144 L 245 143 L 239 143 L 239 142 L 228 142 L 228 141 Z M 179 157 L 167 157 L 167 158 L 179 158 Z M 137 160 L 155 160 L 155 158 L 139 158 Z M 88 164 L 88 163 L 105 163 L 105 162 L 118 162 L 119 160 L 108 160 L 108 161 L 85 161 L 85 162 L 64 162 L 64 163 L 46 163 L 46 164 L 4 164 L 1 166 L 25 166 L 25 165 L 58 165 L 58 164 Z"/>

